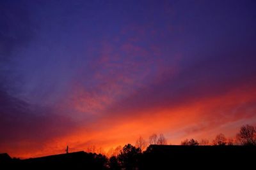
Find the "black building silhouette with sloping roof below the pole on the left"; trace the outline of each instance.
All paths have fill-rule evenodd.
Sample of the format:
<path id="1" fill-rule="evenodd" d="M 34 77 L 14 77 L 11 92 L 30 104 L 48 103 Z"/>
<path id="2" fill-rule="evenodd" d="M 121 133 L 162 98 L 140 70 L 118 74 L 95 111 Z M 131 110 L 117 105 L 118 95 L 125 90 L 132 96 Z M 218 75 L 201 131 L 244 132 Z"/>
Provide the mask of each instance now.
<path id="1" fill-rule="evenodd" d="M 106 157 L 84 151 L 13 160 L 10 169 L 104 169 Z"/>

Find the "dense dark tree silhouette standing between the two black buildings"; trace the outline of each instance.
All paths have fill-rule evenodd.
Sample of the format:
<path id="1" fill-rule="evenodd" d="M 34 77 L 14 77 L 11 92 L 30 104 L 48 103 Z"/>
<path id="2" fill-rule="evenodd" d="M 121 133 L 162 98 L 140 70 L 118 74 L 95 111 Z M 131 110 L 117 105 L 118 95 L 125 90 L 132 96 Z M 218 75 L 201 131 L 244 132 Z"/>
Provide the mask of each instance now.
<path id="1" fill-rule="evenodd" d="M 118 155 L 118 161 L 124 169 L 138 169 L 141 149 L 127 144 Z"/>

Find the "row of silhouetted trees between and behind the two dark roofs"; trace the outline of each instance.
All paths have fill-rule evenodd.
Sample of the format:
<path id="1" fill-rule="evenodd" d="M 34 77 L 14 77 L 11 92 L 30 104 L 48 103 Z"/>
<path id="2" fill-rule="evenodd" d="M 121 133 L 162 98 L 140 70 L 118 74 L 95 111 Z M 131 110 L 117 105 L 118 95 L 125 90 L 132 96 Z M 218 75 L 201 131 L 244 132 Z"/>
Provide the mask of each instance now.
<path id="1" fill-rule="evenodd" d="M 138 169 L 141 166 L 141 161 L 147 155 L 152 145 L 167 145 L 167 140 L 163 134 L 152 134 L 149 136 L 148 141 L 143 137 L 136 139 L 135 146 L 131 144 L 125 145 L 123 148 L 118 146 L 116 148 L 109 149 L 106 156 L 100 154 L 101 159 L 105 159 L 104 167 L 107 169 Z M 236 134 L 236 138 L 226 138 L 224 134 L 220 133 L 216 135 L 211 143 L 208 139 L 185 139 L 181 141 L 180 145 L 184 146 L 256 146 L 256 127 L 252 125 L 243 125 L 239 132 Z M 88 150 L 92 149 L 88 148 Z M 96 149 L 95 149 L 96 150 Z M 101 149 L 100 149 L 101 150 Z M 143 162 L 143 161 L 142 161 Z M 145 162 L 144 162 L 145 163 Z"/>

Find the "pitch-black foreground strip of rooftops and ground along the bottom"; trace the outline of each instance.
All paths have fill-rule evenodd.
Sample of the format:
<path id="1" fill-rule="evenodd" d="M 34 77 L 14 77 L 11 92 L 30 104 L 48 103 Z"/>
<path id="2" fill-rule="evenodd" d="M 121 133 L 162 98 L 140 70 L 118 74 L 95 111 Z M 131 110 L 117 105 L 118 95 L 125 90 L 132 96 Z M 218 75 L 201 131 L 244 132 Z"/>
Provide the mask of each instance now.
<path id="1" fill-rule="evenodd" d="M 25 160 L 0 154 L 0 169 L 255 169 L 255 153 L 256 146 L 150 145 L 122 159 L 86 152 Z"/>

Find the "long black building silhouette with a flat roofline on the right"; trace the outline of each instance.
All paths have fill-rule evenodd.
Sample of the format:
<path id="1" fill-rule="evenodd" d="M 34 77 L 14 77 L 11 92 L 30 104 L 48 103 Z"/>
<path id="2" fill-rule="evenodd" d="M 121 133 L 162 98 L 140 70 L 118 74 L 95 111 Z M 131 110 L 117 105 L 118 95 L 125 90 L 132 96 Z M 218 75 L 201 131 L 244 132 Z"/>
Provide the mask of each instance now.
<path id="1" fill-rule="evenodd" d="M 150 145 L 143 153 L 142 169 L 251 169 L 255 146 Z"/>

